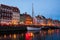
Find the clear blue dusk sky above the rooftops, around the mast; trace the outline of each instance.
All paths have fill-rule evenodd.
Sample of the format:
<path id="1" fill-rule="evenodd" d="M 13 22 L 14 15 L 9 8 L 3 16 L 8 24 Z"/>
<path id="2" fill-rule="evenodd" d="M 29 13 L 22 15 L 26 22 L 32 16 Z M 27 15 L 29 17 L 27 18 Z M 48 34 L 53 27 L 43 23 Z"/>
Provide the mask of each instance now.
<path id="1" fill-rule="evenodd" d="M 32 3 L 34 15 L 43 15 L 46 18 L 60 20 L 60 0 L 0 0 L 0 4 L 16 6 L 21 13 L 32 15 Z"/>

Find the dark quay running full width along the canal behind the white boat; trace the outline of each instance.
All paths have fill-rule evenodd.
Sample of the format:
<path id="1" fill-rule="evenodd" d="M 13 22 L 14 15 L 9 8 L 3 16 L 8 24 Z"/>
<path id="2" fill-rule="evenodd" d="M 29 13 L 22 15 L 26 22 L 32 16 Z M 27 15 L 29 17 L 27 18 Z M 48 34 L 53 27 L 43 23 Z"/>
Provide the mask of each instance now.
<path id="1" fill-rule="evenodd" d="M 0 34 L 20 34 L 20 33 L 26 33 L 27 27 L 34 27 L 34 28 L 41 28 L 41 30 L 47 30 L 47 29 L 60 29 L 59 27 L 55 26 L 35 26 L 35 25 L 20 25 L 20 26 L 1 26 L 0 25 Z"/>

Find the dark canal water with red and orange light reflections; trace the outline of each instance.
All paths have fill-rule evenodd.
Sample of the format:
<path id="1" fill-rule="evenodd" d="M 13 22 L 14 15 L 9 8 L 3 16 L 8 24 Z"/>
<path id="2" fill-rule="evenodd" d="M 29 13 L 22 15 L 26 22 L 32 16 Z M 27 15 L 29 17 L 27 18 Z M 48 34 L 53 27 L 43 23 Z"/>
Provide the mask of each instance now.
<path id="1" fill-rule="evenodd" d="M 60 29 L 28 31 L 22 34 L 0 35 L 0 40 L 60 40 Z"/>

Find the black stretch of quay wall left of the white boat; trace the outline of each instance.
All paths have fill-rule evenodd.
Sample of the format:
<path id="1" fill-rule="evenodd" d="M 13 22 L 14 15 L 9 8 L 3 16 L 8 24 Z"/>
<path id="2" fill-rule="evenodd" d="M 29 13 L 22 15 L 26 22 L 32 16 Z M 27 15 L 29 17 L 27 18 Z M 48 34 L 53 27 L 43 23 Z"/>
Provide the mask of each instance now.
<path id="1" fill-rule="evenodd" d="M 26 27 L 18 26 L 0 26 L 0 34 L 20 34 L 27 31 Z"/>

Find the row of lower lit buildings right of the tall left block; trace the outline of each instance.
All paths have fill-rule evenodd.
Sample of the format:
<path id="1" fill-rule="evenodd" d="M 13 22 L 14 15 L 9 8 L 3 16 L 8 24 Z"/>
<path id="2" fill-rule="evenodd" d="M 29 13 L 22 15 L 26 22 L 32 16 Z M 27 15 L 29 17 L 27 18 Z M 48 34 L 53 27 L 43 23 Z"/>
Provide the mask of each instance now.
<path id="1" fill-rule="evenodd" d="M 44 16 L 38 15 L 33 18 L 32 23 L 32 17 L 27 14 L 27 12 L 20 14 L 20 24 L 26 24 L 26 25 L 40 25 L 40 26 L 60 26 L 60 21 L 58 20 L 52 20 L 51 18 L 45 18 Z"/>

